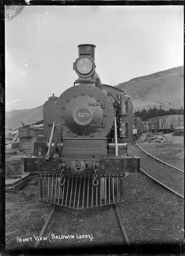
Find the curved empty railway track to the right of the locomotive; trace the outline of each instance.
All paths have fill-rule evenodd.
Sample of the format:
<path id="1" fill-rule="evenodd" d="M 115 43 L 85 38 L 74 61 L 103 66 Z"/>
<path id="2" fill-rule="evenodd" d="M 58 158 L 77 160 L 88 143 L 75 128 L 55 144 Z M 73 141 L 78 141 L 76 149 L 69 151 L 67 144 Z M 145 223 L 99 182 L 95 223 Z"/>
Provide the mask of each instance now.
<path id="1" fill-rule="evenodd" d="M 135 144 L 139 150 L 142 150 L 139 153 L 140 155 L 137 156 L 141 157 L 141 159 L 146 159 L 148 163 L 147 166 L 143 166 L 141 162 L 141 172 L 160 184 L 162 187 L 184 199 L 182 185 L 182 180 L 184 179 L 184 171 L 148 154 L 138 146 L 137 142 Z"/>

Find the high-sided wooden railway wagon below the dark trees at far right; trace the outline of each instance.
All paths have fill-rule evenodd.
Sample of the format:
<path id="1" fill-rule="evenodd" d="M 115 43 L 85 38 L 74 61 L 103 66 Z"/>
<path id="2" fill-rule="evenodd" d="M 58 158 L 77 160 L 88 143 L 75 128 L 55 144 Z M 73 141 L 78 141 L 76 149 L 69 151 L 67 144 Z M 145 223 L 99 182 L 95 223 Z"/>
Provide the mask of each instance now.
<path id="1" fill-rule="evenodd" d="M 174 127 L 184 122 L 183 115 L 168 115 L 148 119 L 149 131 L 151 132 L 174 132 Z"/>

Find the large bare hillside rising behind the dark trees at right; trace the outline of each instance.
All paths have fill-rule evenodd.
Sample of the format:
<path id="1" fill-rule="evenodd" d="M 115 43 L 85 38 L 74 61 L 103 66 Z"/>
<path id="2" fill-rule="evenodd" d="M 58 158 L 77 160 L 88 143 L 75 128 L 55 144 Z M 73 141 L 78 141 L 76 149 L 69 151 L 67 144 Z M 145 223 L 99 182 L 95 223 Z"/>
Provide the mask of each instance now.
<path id="1" fill-rule="evenodd" d="M 134 111 L 153 106 L 168 110 L 184 106 L 184 67 L 134 78 L 116 87 L 130 96 Z"/>

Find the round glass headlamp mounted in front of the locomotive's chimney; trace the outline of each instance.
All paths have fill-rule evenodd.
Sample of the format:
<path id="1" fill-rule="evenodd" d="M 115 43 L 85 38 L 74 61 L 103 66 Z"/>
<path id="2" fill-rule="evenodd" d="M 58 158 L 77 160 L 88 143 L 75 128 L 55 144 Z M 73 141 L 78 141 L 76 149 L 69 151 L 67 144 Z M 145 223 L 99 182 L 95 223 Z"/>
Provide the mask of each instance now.
<path id="1" fill-rule="evenodd" d="M 73 69 L 80 77 L 87 78 L 95 72 L 95 62 L 90 56 L 82 55 L 73 63 Z"/>

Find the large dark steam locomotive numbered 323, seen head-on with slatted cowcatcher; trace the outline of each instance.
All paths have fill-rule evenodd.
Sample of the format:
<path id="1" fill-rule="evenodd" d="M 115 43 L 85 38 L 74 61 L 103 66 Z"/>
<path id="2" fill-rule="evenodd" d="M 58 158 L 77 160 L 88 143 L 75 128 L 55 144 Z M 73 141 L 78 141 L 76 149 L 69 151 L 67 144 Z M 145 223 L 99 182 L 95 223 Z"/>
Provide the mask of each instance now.
<path id="1" fill-rule="evenodd" d="M 124 91 L 102 84 L 95 45 L 78 45 L 74 86 L 43 106 L 44 130 L 24 170 L 40 174 L 40 201 L 75 210 L 123 202 L 123 179 L 139 173 L 133 105 Z"/>

